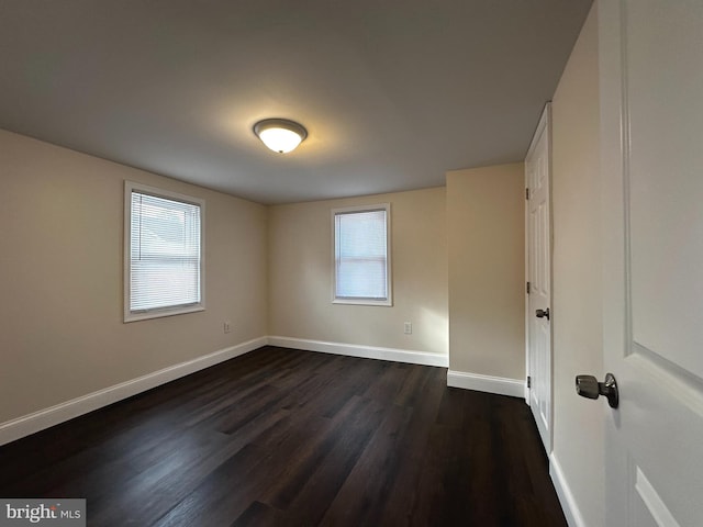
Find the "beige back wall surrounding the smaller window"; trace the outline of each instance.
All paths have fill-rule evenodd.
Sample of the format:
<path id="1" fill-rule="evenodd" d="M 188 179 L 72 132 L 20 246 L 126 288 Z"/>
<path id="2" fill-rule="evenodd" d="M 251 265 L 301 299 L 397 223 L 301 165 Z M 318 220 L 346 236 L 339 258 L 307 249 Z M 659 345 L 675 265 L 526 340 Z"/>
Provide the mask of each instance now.
<path id="1" fill-rule="evenodd" d="M 393 305 L 332 304 L 331 210 L 386 202 Z M 445 233 L 444 188 L 269 208 L 269 333 L 446 355 Z"/>

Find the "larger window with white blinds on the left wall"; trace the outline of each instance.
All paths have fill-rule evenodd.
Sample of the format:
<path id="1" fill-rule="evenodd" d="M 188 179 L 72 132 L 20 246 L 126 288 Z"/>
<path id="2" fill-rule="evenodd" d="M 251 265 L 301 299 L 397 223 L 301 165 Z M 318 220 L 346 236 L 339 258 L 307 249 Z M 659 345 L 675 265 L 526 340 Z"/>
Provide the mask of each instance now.
<path id="1" fill-rule="evenodd" d="M 205 202 L 124 186 L 124 322 L 204 310 Z"/>

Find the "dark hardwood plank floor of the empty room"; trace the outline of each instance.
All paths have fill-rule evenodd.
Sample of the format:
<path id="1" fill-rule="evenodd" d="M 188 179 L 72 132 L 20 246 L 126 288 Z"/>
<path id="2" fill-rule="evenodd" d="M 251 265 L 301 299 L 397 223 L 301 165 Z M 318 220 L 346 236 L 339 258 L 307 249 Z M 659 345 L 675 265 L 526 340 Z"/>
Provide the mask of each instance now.
<path id="1" fill-rule="evenodd" d="M 0 447 L 0 496 L 89 526 L 565 526 L 523 400 L 265 347 Z"/>

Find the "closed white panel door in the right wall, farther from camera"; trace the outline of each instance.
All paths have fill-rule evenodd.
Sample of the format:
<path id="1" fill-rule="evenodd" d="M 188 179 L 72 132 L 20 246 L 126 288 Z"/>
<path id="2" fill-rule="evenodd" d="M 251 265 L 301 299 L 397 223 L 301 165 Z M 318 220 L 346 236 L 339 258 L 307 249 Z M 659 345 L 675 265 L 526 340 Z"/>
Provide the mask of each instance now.
<path id="1" fill-rule="evenodd" d="M 550 104 L 539 120 L 525 158 L 527 184 L 527 374 L 529 407 L 542 441 L 551 451 L 551 222 Z M 537 316 L 539 313 L 542 316 Z"/>

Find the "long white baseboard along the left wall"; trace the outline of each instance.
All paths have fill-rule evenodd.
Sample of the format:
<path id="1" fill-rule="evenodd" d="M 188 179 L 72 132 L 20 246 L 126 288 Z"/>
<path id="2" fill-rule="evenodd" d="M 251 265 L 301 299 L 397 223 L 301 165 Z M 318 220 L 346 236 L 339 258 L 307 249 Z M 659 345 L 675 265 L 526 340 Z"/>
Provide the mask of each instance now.
<path id="1" fill-rule="evenodd" d="M 15 439 L 29 436 L 59 423 L 64 423 L 79 415 L 87 414 L 93 410 L 101 408 L 109 404 L 131 397 L 146 390 L 166 384 L 167 382 L 180 379 L 181 377 L 194 373 L 196 371 L 209 368 L 225 360 L 233 359 L 239 355 L 253 351 L 261 346 L 266 346 L 266 337 L 255 338 L 236 346 L 214 351 L 197 359 L 169 366 L 163 370 L 148 373 L 146 375 L 122 382 L 103 390 L 99 390 L 80 397 L 66 401 L 49 408 L 44 408 L 33 414 L 18 417 L 0 424 L 0 446 Z"/>

